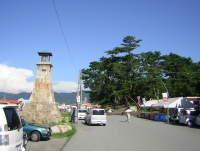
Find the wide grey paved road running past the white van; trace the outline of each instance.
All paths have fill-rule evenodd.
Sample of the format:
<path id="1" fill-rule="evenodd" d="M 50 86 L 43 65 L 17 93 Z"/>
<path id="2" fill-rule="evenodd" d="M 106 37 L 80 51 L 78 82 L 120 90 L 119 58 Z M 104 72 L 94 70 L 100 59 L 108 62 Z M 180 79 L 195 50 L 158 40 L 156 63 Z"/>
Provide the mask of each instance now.
<path id="1" fill-rule="evenodd" d="M 199 151 L 200 128 L 125 116 L 108 116 L 107 126 L 76 125 L 62 151 Z"/>

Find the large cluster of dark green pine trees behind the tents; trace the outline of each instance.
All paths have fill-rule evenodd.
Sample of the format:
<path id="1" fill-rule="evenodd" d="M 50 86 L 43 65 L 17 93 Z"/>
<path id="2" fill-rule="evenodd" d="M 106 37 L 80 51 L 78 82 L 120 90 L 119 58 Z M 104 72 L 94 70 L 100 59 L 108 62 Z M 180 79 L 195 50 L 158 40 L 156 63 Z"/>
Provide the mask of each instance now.
<path id="1" fill-rule="evenodd" d="M 83 69 L 83 83 L 89 88 L 91 102 L 102 106 L 134 105 L 141 98 L 200 95 L 200 62 L 159 51 L 133 54 L 141 40 L 127 36 L 121 47 L 106 51 L 109 57 L 91 62 Z"/>

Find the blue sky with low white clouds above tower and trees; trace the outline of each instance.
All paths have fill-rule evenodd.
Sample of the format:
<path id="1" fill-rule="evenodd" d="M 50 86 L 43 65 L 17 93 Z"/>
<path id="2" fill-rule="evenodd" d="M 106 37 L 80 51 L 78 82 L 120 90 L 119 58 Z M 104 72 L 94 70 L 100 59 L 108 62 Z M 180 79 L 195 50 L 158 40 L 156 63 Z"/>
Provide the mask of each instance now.
<path id="1" fill-rule="evenodd" d="M 136 54 L 200 61 L 200 0 L 1 0 L 0 20 L 0 92 L 31 92 L 44 50 L 53 54 L 54 90 L 76 92 L 79 70 L 125 36 L 142 39 Z"/>

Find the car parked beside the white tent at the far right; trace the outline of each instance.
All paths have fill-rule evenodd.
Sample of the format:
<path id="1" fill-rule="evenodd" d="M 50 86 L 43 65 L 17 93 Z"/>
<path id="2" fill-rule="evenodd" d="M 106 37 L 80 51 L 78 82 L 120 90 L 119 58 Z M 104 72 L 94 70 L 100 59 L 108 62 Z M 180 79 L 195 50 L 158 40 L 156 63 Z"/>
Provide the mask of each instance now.
<path id="1" fill-rule="evenodd" d="M 196 125 L 196 120 L 200 111 L 198 110 L 181 110 L 179 116 L 179 123 L 187 124 L 188 126 Z"/>

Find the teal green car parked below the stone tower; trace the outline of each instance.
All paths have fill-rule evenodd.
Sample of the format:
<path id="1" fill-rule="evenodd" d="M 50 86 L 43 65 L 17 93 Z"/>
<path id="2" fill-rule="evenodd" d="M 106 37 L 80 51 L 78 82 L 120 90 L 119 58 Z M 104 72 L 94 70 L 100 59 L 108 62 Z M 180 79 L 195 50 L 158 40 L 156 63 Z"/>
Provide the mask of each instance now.
<path id="1" fill-rule="evenodd" d="M 23 131 L 28 135 L 29 140 L 38 142 L 41 139 L 48 139 L 52 134 L 50 126 L 37 125 L 22 119 Z"/>

